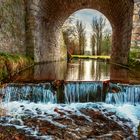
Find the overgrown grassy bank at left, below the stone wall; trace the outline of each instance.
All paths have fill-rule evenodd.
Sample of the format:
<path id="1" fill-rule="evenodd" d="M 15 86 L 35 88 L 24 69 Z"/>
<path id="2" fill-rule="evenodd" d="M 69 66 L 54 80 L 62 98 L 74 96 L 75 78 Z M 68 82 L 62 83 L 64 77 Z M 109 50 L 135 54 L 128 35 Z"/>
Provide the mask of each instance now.
<path id="1" fill-rule="evenodd" d="M 0 53 L 0 80 L 9 78 L 33 64 L 33 60 L 23 55 Z"/>

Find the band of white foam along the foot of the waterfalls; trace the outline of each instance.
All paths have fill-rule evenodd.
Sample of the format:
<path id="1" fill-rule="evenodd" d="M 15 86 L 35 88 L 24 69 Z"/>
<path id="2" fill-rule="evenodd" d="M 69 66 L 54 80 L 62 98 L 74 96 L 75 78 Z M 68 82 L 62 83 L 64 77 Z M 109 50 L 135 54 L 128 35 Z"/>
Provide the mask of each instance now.
<path id="1" fill-rule="evenodd" d="M 36 109 L 40 110 L 42 115 L 44 113 L 51 115 L 58 115 L 54 110 L 56 108 L 60 110 L 67 110 L 73 113 L 77 113 L 77 115 L 82 115 L 80 113 L 81 108 L 85 109 L 106 109 L 109 112 L 116 112 L 116 115 L 129 119 L 133 122 L 133 124 L 137 127 L 140 122 L 140 105 L 131 105 L 131 104 L 123 104 L 123 105 L 111 105 L 106 103 L 72 103 L 68 105 L 62 104 L 42 104 L 42 103 L 28 103 L 28 102 L 9 102 L 4 104 L 4 107 L 7 109 L 8 114 L 16 117 L 20 117 L 24 115 L 25 110 L 30 110 L 34 115 L 37 115 Z M 23 109 L 24 108 L 24 109 Z"/>

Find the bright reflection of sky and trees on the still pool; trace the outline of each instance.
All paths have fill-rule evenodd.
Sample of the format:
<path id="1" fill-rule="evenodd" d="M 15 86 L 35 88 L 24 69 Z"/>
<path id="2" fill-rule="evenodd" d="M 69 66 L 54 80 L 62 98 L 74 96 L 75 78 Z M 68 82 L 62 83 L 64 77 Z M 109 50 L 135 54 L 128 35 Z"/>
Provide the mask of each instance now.
<path id="1" fill-rule="evenodd" d="M 68 64 L 67 81 L 102 81 L 110 78 L 109 64 L 97 60 L 72 60 Z"/>

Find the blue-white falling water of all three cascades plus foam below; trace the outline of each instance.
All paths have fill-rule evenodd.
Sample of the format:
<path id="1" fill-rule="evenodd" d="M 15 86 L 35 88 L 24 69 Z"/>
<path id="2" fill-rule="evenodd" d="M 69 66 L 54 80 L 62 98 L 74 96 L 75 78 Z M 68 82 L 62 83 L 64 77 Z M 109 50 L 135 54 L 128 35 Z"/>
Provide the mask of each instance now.
<path id="1" fill-rule="evenodd" d="M 57 94 L 51 89 L 50 84 L 30 86 L 10 85 L 3 89 L 6 95 L 3 100 L 3 107 L 7 110 L 7 115 L 11 116 L 11 118 L 8 118 L 9 121 L 7 124 L 9 125 L 12 119 L 20 120 L 21 124 L 19 126 L 17 125 L 17 128 L 22 126 L 25 127 L 25 129 L 31 129 L 32 135 L 37 135 L 37 129 L 34 131 L 32 128 L 24 126 L 25 124 L 22 122 L 22 117 L 37 117 L 47 120 L 59 128 L 65 128 L 65 125 L 53 120 L 54 116 L 60 117 L 58 111 L 62 112 L 66 118 L 68 118 L 70 114 L 73 114 L 83 116 L 92 122 L 92 119 L 81 113 L 80 109 L 94 109 L 101 111 L 108 119 L 112 119 L 113 117 L 113 120 L 122 127 L 126 122 L 126 125 L 130 126 L 136 134 L 140 122 L 140 86 L 111 86 L 115 86 L 115 88 L 119 89 L 119 92 L 108 92 L 104 99 L 104 94 L 101 92 L 103 89 L 102 82 L 89 82 L 84 84 L 68 83 L 64 87 L 65 104 L 57 104 Z M 98 99 L 99 94 L 101 94 L 100 99 Z M 93 103 L 94 100 L 97 102 Z M 110 112 L 114 115 L 109 116 L 108 114 Z"/>

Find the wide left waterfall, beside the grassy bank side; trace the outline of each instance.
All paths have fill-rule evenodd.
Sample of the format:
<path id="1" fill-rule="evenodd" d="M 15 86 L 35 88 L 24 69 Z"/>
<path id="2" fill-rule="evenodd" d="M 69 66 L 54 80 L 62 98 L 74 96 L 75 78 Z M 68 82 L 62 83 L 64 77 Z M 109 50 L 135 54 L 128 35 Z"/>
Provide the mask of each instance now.
<path id="1" fill-rule="evenodd" d="M 3 88 L 5 95 L 3 101 L 28 101 L 35 103 L 56 103 L 57 98 L 54 92 L 51 91 L 49 83 L 43 84 L 9 84 Z"/>

